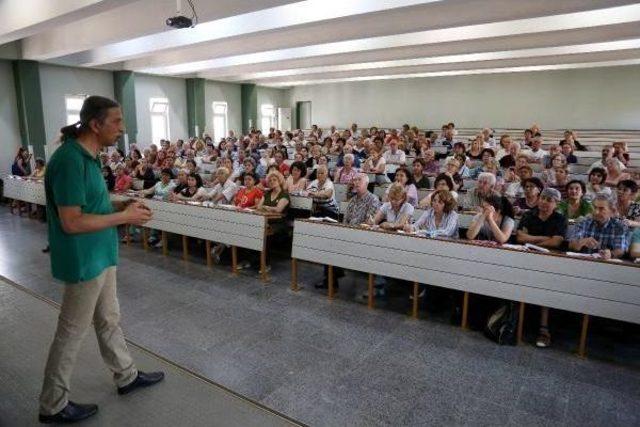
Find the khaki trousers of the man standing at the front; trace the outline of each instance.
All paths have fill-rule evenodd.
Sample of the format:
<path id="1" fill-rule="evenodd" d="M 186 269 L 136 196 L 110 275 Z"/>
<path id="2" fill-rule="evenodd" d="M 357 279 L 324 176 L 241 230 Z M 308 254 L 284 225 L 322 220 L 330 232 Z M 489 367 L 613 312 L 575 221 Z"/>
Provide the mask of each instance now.
<path id="1" fill-rule="evenodd" d="M 116 385 L 125 386 L 137 377 L 120 329 L 116 267 L 109 267 L 95 279 L 65 285 L 58 328 L 44 372 L 41 414 L 53 415 L 67 406 L 73 366 L 92 320 L 102 359 L 113 372 Z"/>

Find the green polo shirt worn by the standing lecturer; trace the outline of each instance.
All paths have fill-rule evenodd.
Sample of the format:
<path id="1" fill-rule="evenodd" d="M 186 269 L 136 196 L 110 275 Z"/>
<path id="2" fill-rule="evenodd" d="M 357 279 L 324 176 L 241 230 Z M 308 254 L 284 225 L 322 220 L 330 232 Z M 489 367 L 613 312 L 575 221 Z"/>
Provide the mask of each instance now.
<path id="1" fill-rule="evenodd" d="M 53 277 L 66 283 L 85 282 L 99 276 L 105 268 L 116 265 L 116 227 L 68 234 L 62 229 L 58 216 L 59 206 L 80 206 L 87 214 L 113 213 L 100 160 L 75 139 L 69 139 L 51 156 L 44 184 Z"/>

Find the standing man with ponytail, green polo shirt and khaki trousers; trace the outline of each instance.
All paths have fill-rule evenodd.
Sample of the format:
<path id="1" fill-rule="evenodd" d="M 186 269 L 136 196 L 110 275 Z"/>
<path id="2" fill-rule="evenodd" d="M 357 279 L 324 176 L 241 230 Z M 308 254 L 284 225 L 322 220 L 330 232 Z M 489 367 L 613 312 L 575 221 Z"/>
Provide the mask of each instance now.
<path id="1" fill-rule="evenodd" d="M 116 296 L 121 224 L 143 225 L 151 211 L 140 202 L 114 212 L 100 169 L 99 152 L 124 131 L 120 106 L 108 98 L 84 101 L 80 121 L 61 129 L 63 143 L 45 175 L 51 270 L 65 282 L 55 338 L 40 395 L 40 422 L 69 423 L 94 415 L 98 406 L 68 399 L 71 374 L 93 321 L 100 353 L 113 372 L 118 394 L 161 381 L 162 372 L 139 372 L 120 329 Z"/>

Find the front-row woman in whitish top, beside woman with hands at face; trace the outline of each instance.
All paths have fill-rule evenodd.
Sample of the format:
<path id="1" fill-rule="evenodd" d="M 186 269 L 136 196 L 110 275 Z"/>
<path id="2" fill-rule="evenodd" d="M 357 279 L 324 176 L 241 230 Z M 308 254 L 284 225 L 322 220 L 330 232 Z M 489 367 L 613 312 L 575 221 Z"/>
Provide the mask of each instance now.
<path id="1" fill-rule="evenodd" d="M 405 225 L 404 231 L 417 232 L 428 237 L 458 237 L 457 203 L 447 190 L 436 190 L 431 197 L 431 207 L 413 225 Z"/>

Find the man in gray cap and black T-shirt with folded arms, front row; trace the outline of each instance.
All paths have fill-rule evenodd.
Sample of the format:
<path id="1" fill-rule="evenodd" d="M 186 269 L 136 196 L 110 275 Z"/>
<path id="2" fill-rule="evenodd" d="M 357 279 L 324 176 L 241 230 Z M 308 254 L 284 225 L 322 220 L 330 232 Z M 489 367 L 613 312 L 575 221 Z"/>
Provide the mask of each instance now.
<path id="1" fill-rule="evenodd" d="M 527 211 L 518 224 L 518 243 L 532 243 L 549 249 L 557 249 L 562 245 L 567 231 L 567 219 L 556 212 L 561 199 L 560 192 L 555 188 L 542 190 L 538 206 Z M 544 348 L 550 344 L 549 308 L 542 307 L 536 346 Z"/>

